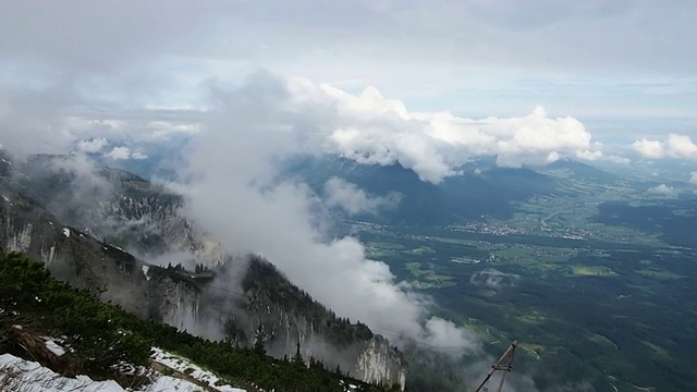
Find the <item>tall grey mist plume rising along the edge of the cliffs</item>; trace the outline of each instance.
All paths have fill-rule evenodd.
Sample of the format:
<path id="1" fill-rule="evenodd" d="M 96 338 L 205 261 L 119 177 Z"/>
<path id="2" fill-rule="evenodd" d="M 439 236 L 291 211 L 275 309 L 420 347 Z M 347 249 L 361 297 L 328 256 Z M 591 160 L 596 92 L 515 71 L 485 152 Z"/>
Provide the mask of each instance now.
<path id="1" fill-rule="evenodd" d="M 265 73 L 241 88 L 216 89 L 216 111 L 206 132 L 192 140 L 187 215 L 219 237 L 227 252 L 267 257 L 343 317 L 391 336 L 463 353 L 476 350 L 472 334 L 429 316 L 429 299 L 398 282 L 386 264 L 368 259 L 356 238 L 328 236 L 317 224 L 322 200 L 306 185 L 274 183 L 279 168 L 273 162 L 306 147 L 305 138 L 289 132 L 292 113 L 279 110 L 286 98 L 283 84 Z M 331 186 L 355 191 L 344 183 Z"/>

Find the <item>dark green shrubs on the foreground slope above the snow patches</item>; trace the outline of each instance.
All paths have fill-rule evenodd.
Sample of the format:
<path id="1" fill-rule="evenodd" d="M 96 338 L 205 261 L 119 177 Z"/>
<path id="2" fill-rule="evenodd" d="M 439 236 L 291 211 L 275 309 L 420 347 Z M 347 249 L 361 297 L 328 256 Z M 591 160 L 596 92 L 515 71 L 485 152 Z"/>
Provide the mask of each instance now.
<path id="1" fill-rule="evenodd" d="M 40 335 L 64 336 L 63 344 L 73 352 L 57 359 L 42 342 L 36 343 Z M 341 381 L 347 379 L 311 358 L 308 368 L 297 360 L 277 360 L 138 319 L 51 278 L 40 262 L 20 254 L 0 255 L 0 352 L 38 359 L 64 375 L 119 380 L 122 376 L 114 375 L 111 366 L 120 362 L 148 366 L 152 346 L 185 356 L 248 391 L 257 390 L 253 384 L 267 391 L 342 391 Z M 347 381 L 363 391 L 396 388 Z"/>

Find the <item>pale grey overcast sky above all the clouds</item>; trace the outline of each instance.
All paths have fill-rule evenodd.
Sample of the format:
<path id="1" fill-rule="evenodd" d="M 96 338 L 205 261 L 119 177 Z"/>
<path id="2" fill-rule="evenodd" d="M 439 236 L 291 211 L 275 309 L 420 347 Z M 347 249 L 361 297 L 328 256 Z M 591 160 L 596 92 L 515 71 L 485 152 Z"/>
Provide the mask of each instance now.
<path id="1" fill-rule="evenodd" d="M 130 105 L 200 103 L 199 83 L 266 68 L 419 111 L 695 118 L 696 22 L 689 0 L 3 0 L 0 70 Z"/>

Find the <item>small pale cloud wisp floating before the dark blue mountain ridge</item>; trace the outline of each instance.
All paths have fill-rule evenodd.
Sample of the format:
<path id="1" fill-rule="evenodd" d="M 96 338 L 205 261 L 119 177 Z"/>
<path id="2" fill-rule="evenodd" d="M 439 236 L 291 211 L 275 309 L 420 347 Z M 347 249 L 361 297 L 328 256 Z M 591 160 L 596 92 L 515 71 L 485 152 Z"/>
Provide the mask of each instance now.
<path id="1" fill-rule="evenodd" d="M 350 216 L 377 215 L 381 209 L 394 209 L 401 196 L 392 193 L 388 196 L 372 196 L 355 184 L 339 177 L 332 177 L 325 184 L 325 203 L 329 207 L 339 207 Z"/>

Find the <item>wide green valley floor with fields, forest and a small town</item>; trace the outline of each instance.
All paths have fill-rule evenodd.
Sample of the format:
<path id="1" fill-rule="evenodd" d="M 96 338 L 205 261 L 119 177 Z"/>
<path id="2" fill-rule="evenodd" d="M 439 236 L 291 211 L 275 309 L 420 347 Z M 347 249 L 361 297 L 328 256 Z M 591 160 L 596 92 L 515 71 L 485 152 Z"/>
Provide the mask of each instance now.
<path id="1" fill-rule="evenodd" d="M 540 211 L 538 224 L 548 215 Z M 594 226 L 604 225 L 585 228 Z M 423 282 L 416 286 L 436 299 L 432 310 L 472 331 L 492 356 L 519 340 L 514 371 L 535 373 L 540 390 L 585 381 L 599 392 L 697 390 L 688 365 L 697 324 L 685 322 L 697 317 L 697 252 L 632 229 L 566 230 L 499 222 L 383 226 L 359 237 L 403 244 L 381 260 L 399 279 Z M 413 252 L 424 247 L 432 252 Z M 428 284 L 435 277 L 450 284 Z M 407 387 L 433 381 L 417 375 Z"/>

